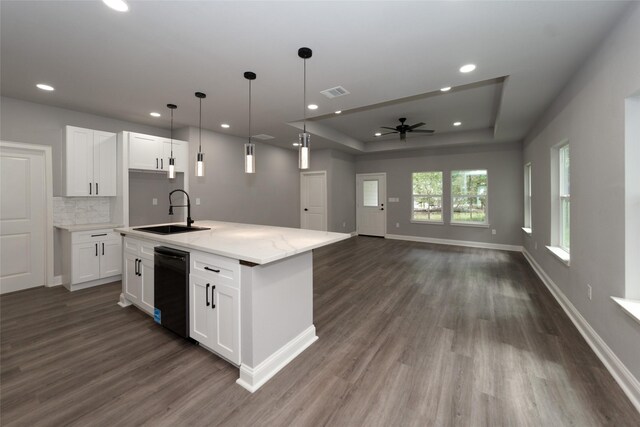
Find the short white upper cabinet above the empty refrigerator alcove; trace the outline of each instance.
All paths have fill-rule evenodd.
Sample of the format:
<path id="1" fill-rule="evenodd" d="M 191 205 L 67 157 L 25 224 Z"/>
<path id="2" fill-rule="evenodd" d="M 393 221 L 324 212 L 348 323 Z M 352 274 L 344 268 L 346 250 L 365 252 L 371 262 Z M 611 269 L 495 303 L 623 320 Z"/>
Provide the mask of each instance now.
<path id="1" fill-rule="evenodd" d="M 129 169 L 169 170 L 169 157 L 173 145 L 176 172 L 187 172 L 188 145 L 185 141 L 158 136 L 129 133 Z"/>

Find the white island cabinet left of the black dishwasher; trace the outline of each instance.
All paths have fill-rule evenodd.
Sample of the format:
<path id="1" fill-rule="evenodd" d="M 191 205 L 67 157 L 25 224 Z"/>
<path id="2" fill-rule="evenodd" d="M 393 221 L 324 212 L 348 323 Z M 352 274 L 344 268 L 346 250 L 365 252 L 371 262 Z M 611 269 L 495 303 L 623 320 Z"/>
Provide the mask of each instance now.
<path id="1" fill-rule="evenodd" d="M 122 292 L 127 300 L 153 315 L 153 248 L 155 244 L 125 237 Z"/>

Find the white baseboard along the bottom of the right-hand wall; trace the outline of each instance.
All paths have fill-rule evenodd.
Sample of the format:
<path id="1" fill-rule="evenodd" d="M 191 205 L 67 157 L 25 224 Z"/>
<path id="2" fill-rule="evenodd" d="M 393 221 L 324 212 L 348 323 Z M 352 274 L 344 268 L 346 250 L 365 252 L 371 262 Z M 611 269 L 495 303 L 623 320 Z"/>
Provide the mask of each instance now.
<path id="1" fill-rule="evenodd" d="M 558 304 L 562 307 L 571 322 L 578 328 L 578 331 L 582 337 L 587 341 L 589 347 L 594 351 L 596 356 L 607 368 L 609 373 L 616 380 L 618 385 L 622 388 L 622 391 L 627 395 L 633 406 L 640 412 L 640 382 L 622 363 L 618 356 L 615 355 L 613 350 L 609 348 L 606 342 L 598 335 L 598 333 L 591 327 L 589 322 L 580 314 L 576 307 L 569 301 L 560 288 L 551 280 L 549 275 L 542 269 L 540 264 L 536 262 L 526 249 L 522 250 L 524 257 L 527 259 L 533 271 L 536 272 L 542 283 L 545 284 L 551 295 L 558 301 Z"/>

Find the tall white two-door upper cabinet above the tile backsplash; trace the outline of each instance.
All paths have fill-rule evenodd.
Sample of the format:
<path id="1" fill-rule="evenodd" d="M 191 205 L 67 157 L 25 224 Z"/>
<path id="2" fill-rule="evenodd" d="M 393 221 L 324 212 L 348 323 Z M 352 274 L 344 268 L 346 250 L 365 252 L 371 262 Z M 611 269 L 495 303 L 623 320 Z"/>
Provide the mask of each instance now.
<path id="1" fill-rule="evenodd" d="M 65 127 L 64 196 L 116 195 L 116 134 Z"/>

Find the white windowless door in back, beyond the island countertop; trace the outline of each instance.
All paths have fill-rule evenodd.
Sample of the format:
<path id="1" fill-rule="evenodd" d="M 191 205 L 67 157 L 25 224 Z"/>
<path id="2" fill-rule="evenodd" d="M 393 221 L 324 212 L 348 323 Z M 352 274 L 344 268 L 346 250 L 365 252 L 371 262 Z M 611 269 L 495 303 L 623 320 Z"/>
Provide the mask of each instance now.
<path id="1" fill-rule="evenodd" d="M 300 228 L 327 231 L 327 172 L 300 174 Z"/>

